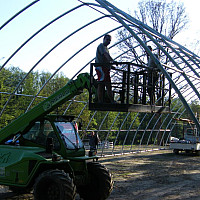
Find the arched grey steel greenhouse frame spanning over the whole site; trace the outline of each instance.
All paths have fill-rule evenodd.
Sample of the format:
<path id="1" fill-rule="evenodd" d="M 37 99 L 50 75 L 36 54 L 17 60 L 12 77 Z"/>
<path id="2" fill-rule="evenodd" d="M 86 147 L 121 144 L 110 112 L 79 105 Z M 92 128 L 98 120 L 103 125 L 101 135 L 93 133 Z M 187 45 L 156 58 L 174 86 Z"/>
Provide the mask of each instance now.
<path id="1" fill-rule="evenodd" d="M 36 0 L 30 3 L 29 5 L 22 8 L 19 12 L 14 14 L 10 19 L 8 19 L 3 25 L 0 26 L 0 33 L 2 31 L 6 31 L 5 26 L 12 25 L 12 21 L 17 20 L 18 16 L 23 15 L 23 13 L 26 11 L 28 12 L 30 8 L 34 8 L 34 5 L 39 6 L 40 1 Z M 86 3 L 80 0 L 77 0 L 77 6 L 74 8 L 69 8 L 66 12 L 62 13 L 58 17 L 52 19 L 49 21 L 46 25 L 42 26 L 39 30 L 37 30 L 34 34 L 32 34 L 24 43 L 22 43 L 14 52 L 10 53 L 10 56 L 6 59 L 6 61 L 0 66 L 0 73 L 2 72 L 2 69 L 5 68 L 10 61 L 15 57 L 19 55 L 19 52 L 26 48 L 26 46 L 29 44 L 30 41 L 36 40 L 37 36 L 42 33 L 44 30 L 47 30 L 48 27 L 50 27 L 54 23 L 58 23 L 60 19 L 67 19 L 67 17 L 75 12 L 79 11 L 82 8 L 87 8 L 88 12 L 91 10 L 95 11 L 100 15 L 96 19 L 89 19 L 88 22 L 80 27 L 77 27 L 75 31 L 71 32 L 70 34 L 66 35 L 64 38 L 62 38 L 59 42 L 57 42 L 52 48 L 50 48 L 44 55 L 41 56 L 37 60 L 35 64 L 32 65 L 32 67 L 29 69 L 29 71 L 24 75 L 24 77 L 21 79 L 21 81 L 16 85 L 16 88 L 12 92 L 5 92 L 0 91 L 0 94 L 2 95 L 9 95 L 9 98 L 3 105 L 2 109 L 0 110 L 0 117 L 4 117 L 4 113 L 6 112 L 6 108 L 8 107 L 11 99 L 13 96 L 16 95 L 22 95 L 24 97 L 31 97 L 31 101 L 27 108 L 25 108 L 24 112 L 27 112 L 33 105 L 34 101 L 37 98 L 46 98 L 40 95 L 42 90 L 48 85 L 49 81 L 58 73 L 60 72 L 64 66 L 66 66 L 69 61 L 72 59 L 75 60 L 76 57 L 84 52 L 87 51 L 87 48 L 91 45 L 96 45 L 100 39 L 102 39 L 104 34 L 115 34 L 117 31 L 121 29 L 126 29 L 126 31 L 129 33 L 127 37 L 123 39 L 118 39 L 116 43 L 114 43 L 112 46 L 109 47 L 111 51 L 115 51 L 118 53 L 115 53 L 115 60 L 116 61 L 124 61 L 123 56 L 130 53 L 132 50 L 135 50 L 137 52 L 137 55 L 133 58 L 126 58 L 126 62 L 139 62 L 139 60 L 142 60 L 143 62 L 146 61 L 146 54 L 145 51 L 148 52 L 148 54 L 152 57 L 152 59 L 157 63 L 159 69 L 161 72 L 165 75 L 168 82 L 172 85 L 172 104 L 171 107 L 171 113 L 145 113 L 144 115 L 141 115 L 140 113 L 135 113 L 134 117 L 132 118 L 132 121 L 130 123 L 127 123 L 127 119 L 131 115 L 130 112 L 128 113 L 120 113 L 118 112 L 112 123 L 105 128 L 105 122 L 108 119 L 109 115 L 111 115 L 111 112 L 104 112 L 104 117 L 102 118 L 101 123 L 98 126 L 98 129 L 96 130 L 101 138 L 102 133 L 104 134 L 104 140 L 105 143 L 108 141 L 108 138 L 111 134 L 115 134 L 114 140 L 113 140 L 113 147 L 110 150 L 106 149 L 106 145 L 102 146 L 101 149 L 101 156 L 106 155 L 116 155 L 116 154 L 126 154 L 126 153 L 133 153 L 138 152 L 142 150 L 153 150 L 153 149 L 161 149 L 161 148 L 167 148 L 167 144 L 169 142 L 170 136 L 173 134 L 173 130 L 176 124 L 176 121 L 174 122 L 174 118 L 181 118 L 181 116 L 187 112 L 190 117 L 193 119 L 194 123 L 196 124 L 198 130 L 200 129 L 199 121 L 197 117 L 194 114 L 194 111 L 190 107 L 190 103 L 193 100 L 200 100 L 200 58 L 199 56 L 195 55 L 185 47 L 181 46 L 180 44 L 170 40 L 169 38 L 161 35 L 160 33 L 156 32 L 149 26 L 143 24 L 142 22 L 138 21 L 137 19 L 133 18 L 129 14 L 125 13 L 124 11 L 118 9 L 111 3 L 105 0 L 96 0 L 96 3 Z M 60 66 L 57 66 L 57 69 L 52 73 L 52 75 L 49 77 L 48 80 L 41 86 L 41 88 L 38 90 L 37 94 L 32 95 L 25 95 L 25 94 L 17 94 L 16 91 L 18 88 L 25 82 L 25 80 L 29 77 L 29 75 L 37 69 L 37 67 L 40 65 L 42 61 L 44 61 L 45 58 L 48 58 L 51 56 L 51 53 L 55 51 L 58 47 L 60 47 L 61 44 L 65 43 L 67 40 L 70 40 L 75 35 L 79 34 L 81 35 L 81 31 L 84 29 L 87 29 L 88 27 L 95 25 L 102 20 L 112 20 L 116 26 L 108 29 L 103 34 L 97 35 L 94 39 L 92 39 L 90 42 L 86 43 L 84 46 L 80 47 L 75 53 L 73 53 L 71 56 L 67 57 L 66 60 L 64 60 L 63 64 Z M 105 22 L 106 23 L 106 22 Z M 145 35 L 147 37 L 147 41 L 144 42 L 142 40 L 142 35 Z M 81 37 L 81 36 L 80 36 Z M 123 42 L 127 40 L 133 40 L 134 46 L 132 48 L 129 48 L 124 51 L 118 51 L 118 46 L 120 44 L 123 44 Z M 161 60 L 166 60 L 167 62 L 158 62 L 156 57 L 153 55 L 152 52 L 147 47 L 147 43 L 150 43 L 153 46 L 154 50 L 160 51 Z M 116 51 L 117 50 L 117 51 Z M 22 55 L 23 56 L 23 55 Z M 127 60 L 128 59 L 128 60 Z M 79 67 L 78 71 L 74 73 L 71 79 L 74 79 L 79 73 L 81 73 L 83 70 L 88 68 L 91 62 L 94 61 L 94 57 L 89 58 L 89 60 L 84 64 L 81 63 L 82 66 Z M 122 69 L 124 66 L 120 66 Z M 170 76 L 170 73 L 173 73 L 173 76 Z M 112 74 L 112 77 L 115 77 L 115 73 Z M 178 100 L 177 100 L 178 99 Z M 70 107 L 73 104 L 79 104 L 83 103 L 84 106 L 82 110 L 80 111 L 78 115 L 78 119 L 81 118 L 81 115 L 84 111 L 87 111 L 87 105 L 88 101 L 78 101 L 76 100 L 76 97 L 73 98 L 73 100 L 70 100 L 70 103 L 66 105 L 66 109 L 64 111 L 64 114 L 67 113 L 67 111 L 70 109 Z M 92 121 L 97 117 L 99 111 L 94 111 L 91 114 L 90 120 L 88 124 L 85 126 L 86 128 L 83 131 L 85 136 L 86 132 L 90 131 Z M 117 130 L 114 130 L 113 127 L 117 123 L 117 120 L 123 116 L 123 120 L 121 124 L 119 125 Z M 140 118 L 140 124 L 136 126 L 137 119 Z M 162 119 L 162 120 L 161 120 Z M 162 122 L 160 122 L 162 121 Z M 167 123 L 167 125 L 165 125 Z M 125 125 L 128 124 L 128 128 L 124 129 Z M 141 127 L 144 127 L 145 129 L 141 129 Z M 103 128 L 104 127 L 104 128 Z M 161 138 L 158 143 L 158 137 L 161 134 Z M 118 138 L 123 135 L 124 139 L 122 144 L 119 146 L 118 144 Z M 154 136 L 153 136 L 154 135 Z M 129 145 L 128 144 L 128 138 L 129 138 Z M 131 138 L 131 139 L 130 139 Z M 144 139 L 146 138 L 146 139 Z M 151 142 L 151 139 L 153 138 L 153 142 Z M 131 142 L 130 142 L 131 141 Z"/>

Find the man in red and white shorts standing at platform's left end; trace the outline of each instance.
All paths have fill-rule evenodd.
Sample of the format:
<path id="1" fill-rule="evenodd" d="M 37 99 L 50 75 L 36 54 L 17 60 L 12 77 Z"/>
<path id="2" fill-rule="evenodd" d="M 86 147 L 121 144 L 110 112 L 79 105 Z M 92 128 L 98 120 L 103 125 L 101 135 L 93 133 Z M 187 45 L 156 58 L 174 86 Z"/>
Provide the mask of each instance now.
<path id="1" fill-rule="evenodd" d="M 111 42 L 111 36 L 106 34 L 103 38 L 103 43 L 99 44 L 96 50 L 95 63 L 99 63 L 99 65 L 95 67 L 97 77 L 98 77 L 97 93 L 98 93 L 99 103 L 103 103 L 103 100 L 104 100 L 103 94 L 104 94 L 105 87 L 107 89 L 107 95 L 108 95 L 109 101 L 111 103 L 114 103 L 114 98 L 113 98 L 112 88 L 111 88 L 111 78 L 110 78 L 110 69 L 111 69 L 110 63 L 113 63 L 114 60 L 110 56 L 109 50 L 107 48 L 110 42 Z"/>

